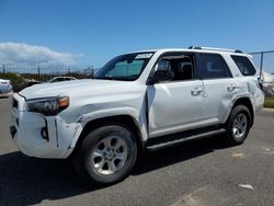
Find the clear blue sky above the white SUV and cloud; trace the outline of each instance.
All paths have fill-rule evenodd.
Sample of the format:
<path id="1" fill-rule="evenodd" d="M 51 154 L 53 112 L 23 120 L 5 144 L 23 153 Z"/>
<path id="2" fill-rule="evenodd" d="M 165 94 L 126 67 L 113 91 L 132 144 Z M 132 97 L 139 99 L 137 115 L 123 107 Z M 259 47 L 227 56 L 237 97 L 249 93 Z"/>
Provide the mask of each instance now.
<path id="1" fill-rule="evenodd" d="M 273 50 L 274 1 L 0 0 L 0 43 L 43 46 L 95 67 L 148 48 Z"/>

